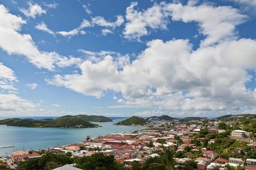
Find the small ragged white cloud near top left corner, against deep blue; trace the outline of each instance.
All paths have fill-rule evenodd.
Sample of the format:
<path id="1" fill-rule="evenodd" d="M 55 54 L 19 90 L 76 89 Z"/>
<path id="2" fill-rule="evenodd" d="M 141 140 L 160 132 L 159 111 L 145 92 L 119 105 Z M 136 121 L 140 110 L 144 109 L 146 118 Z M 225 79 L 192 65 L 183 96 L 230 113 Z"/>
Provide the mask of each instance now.
<path id="1" fill-rule="evenodd" d="M 43 8 L 37 3 L 32 4 L 32 2 L 27 2 L 27 4 L 29 5 L 28 9 L 25 9 L 25 8 L 19 9 L 27 17 L 35 18 L 36 15 L 41 16 L 42 14 L 46 14 L 46 11 L 43 10 Z"/>

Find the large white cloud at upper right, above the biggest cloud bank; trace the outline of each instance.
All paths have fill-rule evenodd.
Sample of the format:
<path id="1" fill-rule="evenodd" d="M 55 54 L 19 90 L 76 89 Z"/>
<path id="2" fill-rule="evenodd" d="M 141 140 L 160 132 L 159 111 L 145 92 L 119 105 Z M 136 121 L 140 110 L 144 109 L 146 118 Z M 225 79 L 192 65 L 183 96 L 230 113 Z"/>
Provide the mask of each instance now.
<path id="1" fill-rule="evenodd" d="M 240 14 L 239 10 L 231 6 L 169 3 L 164 5 L 164 9 L 171 14 L 173 21 L 198 22 L 199 32 L 207 36 L 201 41 L 202 46 L 237 38 L 235 26 L 248 19 L 248 16 Z"/>

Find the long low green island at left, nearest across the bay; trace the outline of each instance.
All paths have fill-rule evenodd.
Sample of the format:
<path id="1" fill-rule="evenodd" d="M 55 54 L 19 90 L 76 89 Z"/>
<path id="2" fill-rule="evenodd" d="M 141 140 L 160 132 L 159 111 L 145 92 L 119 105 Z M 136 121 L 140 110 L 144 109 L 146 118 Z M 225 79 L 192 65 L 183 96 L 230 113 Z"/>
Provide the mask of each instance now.
<path id="1" fill-rule="evenodd" d="M 4 119 L 0 125 L 35 128 L 94 128 L 97 124 L 90 123 L 81 117 L 60 117 L 57 119 Z"/>

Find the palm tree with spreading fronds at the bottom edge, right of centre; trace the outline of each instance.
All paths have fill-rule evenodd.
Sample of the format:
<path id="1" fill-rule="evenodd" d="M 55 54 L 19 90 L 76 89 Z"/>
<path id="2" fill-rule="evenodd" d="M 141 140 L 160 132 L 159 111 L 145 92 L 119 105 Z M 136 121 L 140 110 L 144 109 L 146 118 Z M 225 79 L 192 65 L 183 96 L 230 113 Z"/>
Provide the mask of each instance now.
<path id="1" fill-rule="evenodd" d="M 151 170 L 193 170 L 188 164 L 182 164 L 175 162 L 174 154 L 169 148 L 159 158 L 161 163 L 150 164 Z"/>

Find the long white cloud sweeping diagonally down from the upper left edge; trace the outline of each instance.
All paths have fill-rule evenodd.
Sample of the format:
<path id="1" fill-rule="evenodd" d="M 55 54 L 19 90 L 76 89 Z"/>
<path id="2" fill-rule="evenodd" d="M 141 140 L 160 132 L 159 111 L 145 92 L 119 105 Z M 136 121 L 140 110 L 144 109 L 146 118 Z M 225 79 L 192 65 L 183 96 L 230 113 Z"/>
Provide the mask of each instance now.
<path id="1" fill-rule="evenodd" d="M 50 71 L 55 70 L 56 66 L 67 67 L 80 63 L 80 58 L 61 56 L 55 51 L 40 51 L 32 40 L 31 35 L 19 33 L 26 21 L 20 16 L 10 14 L 3 5 L 0 5 L 0 15 L 0 47 L 8 55 L 23 55 L 34 66 Z"/>

